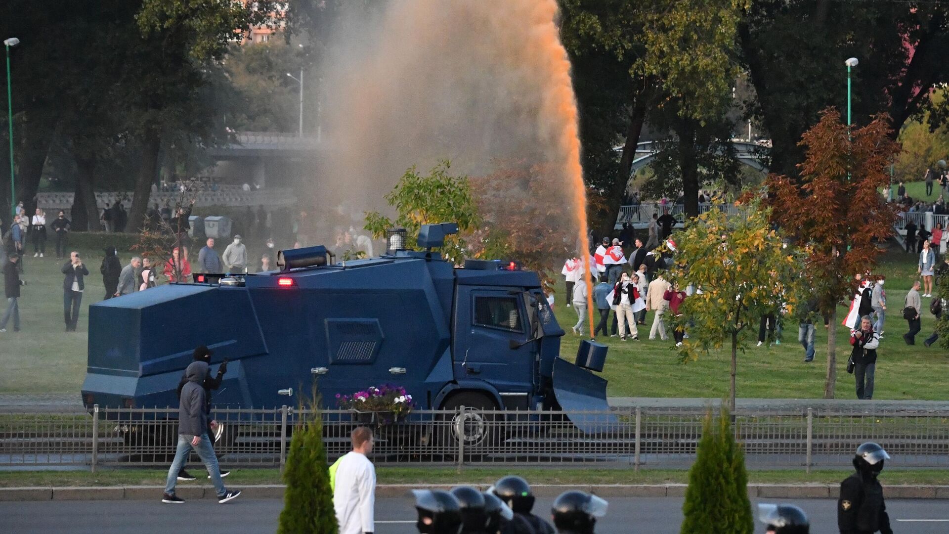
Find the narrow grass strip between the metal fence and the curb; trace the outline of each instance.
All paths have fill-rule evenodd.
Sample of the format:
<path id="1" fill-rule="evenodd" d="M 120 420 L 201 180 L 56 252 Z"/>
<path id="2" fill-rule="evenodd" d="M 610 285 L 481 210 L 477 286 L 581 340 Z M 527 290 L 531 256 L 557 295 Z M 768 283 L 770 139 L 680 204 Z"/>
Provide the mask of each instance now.
<path id="1" fill-rule="evenodd" d="M 751 484 L 839 484 L 846 469 L 749 470 Z M 117 468 L 88 471 L 5 471 L 0 487 L 37 486 L 161 486 L 168 469 Z M 376 467 L 379 484 L 493 484 L 511 474 L 511 467 Z M 523 467 L 517 474 L 531 484 L 687 484 L 685 469 L 640 469 L 580 467 Z M 880 480 L 887 486 L 944 485 L 949 480 L 945 469 L 899 469 L 887 467 Z M 235 468 L 228 476 L 229 486 L 283 484 L 275 468 Z M 179 482 L 179 486 L 203 486 L 207 480 Z"/>

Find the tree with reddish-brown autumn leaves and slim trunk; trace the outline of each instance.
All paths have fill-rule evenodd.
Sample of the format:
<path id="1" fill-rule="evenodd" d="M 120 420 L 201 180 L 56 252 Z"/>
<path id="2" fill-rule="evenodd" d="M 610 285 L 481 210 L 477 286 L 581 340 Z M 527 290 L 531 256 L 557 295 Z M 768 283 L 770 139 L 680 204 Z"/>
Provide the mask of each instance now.
<path id="1" fill-rule="evenodd" d="M 828 108 L 801 139 L 806 159 L 798 164 L 800 178 L 771 175 L 765 181 L 772 221 L 808 245 L 809 291 L 830 317 L 825 398 L 834 397 L 837 380 L 837 304 L 853 294 L 854 277 L 882 252 L 876 242 L 893 235 L 896 214 L 879 193 L 900 151 L 890 134 L 888 117 L 878 115 L 848 136 L 840 113 Z"/>

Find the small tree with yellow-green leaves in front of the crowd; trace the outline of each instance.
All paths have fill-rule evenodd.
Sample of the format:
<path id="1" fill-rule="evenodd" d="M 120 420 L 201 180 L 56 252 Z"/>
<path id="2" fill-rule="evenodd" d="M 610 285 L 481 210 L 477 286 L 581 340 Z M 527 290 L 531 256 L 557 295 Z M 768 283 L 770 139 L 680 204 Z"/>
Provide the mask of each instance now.
<path id="1" fill-rule="evenodd" d="M 730 406 L 735 407 L 737 353 L 745 352 L 758 318 L 788 312 L 800 295 L 798 262 L 772 229 L 768 212 L 743 206 L 737 216 L 710 210 L 673 235 L 678 245 L 670 282 L 695 295 L 679 307 L 676 322 L 688 324 L 689 339 L 682 344 L 683 361 L 699 352 L 732 350 Z"/>

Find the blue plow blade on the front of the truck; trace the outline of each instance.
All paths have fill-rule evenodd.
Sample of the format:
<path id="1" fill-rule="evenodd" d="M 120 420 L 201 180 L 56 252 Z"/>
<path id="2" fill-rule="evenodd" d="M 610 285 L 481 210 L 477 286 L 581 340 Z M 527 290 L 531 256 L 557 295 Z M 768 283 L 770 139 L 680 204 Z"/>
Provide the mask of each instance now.
<path id="1" fill-rule="evenodd" d="M 565 359 L 553 361 L 553 395 L 567 417 L 587 436 L 616 433 L 620 421 L 606 404 L 606 380 Z M 603 413 L 571 413 L 600 411 Z M 609 412 L 609 413 L 607 413 Z"/>

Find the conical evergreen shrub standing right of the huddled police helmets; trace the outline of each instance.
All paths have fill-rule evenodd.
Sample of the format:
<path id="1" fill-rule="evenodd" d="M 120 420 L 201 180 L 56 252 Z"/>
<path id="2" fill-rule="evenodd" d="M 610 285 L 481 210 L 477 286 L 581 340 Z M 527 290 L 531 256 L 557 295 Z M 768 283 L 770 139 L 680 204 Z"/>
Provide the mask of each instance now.
<path id="1" fill-rule="evenodd" d="M 735 443 L 728 410 L 722 409 L 717 418 L 711 410 L 705 414 L 682 513 L 681 534 L 754 532 L 745 456 Z"/>

